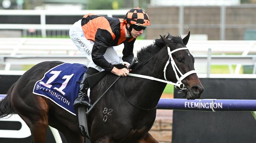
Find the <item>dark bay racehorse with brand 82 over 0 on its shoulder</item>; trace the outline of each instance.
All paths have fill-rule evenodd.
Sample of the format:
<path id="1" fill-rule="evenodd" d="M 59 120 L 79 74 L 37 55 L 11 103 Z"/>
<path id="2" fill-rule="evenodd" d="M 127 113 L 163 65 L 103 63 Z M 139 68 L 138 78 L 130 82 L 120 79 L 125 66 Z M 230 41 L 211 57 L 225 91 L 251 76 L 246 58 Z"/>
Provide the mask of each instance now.
<path id="1" fill-rule="evenodd" d="M 189 34 L 185 38 L 168 34 L 155 40 L 137 54 L 137 61 L 131 73 L 153 76 L 177 82 L 171 64 L 173 58 L 182 74 L 194 70 L 194 57 L 186 47 Z M 169 51 L 175 51 L 170 56 Z M 63 62 L 42 62 L 25 72 L 9 89 L 6 98 L 0 102 L 0 118 L 17 113 L 30 128 L 33 142 L 44 143 L 48 125 L 60 130 L 69 143 L 83 143 L 76 116 L 62 109 L 48 98 L 32 93 L 36 81 L 52 67 Z M 164 69 L 165 72 L 164 72 Z M 166 76 L 165 76 L 166 75 Z M 107 74 L 91 90 L 91 102 L 116 80 L 114 74 Z M 187 74 L 181 82 L 187 87 L 188 99 L 199 98 L 204 87 L 196 73 Z M 88 116 L 89 134 L 92 143 L 158 143 L 149 133 L 155 117 L 156 106 L 166 83 L 138 78 L 121 77 L 97 103 Z"/>

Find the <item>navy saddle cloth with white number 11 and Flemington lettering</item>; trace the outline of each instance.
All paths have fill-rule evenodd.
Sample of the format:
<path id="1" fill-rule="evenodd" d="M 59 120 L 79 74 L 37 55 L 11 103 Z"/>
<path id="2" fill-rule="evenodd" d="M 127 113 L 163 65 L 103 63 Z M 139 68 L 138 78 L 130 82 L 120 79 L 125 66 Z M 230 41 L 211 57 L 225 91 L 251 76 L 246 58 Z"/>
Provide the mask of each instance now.
<path id="1" fill-rule="evenodd" d="M 33 93 L 49 98 L 54 103 L 76 115 L 73 103 L 79 91 L 86 67 L 79 63 L 62 63 L 45 73 L 45 76 L 36 82 Z"/>

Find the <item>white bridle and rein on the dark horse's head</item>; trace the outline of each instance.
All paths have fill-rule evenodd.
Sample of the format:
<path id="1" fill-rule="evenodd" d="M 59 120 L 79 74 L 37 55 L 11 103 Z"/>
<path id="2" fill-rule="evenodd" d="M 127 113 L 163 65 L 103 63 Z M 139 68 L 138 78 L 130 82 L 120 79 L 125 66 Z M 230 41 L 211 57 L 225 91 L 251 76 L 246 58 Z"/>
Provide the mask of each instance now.
<path id="1" fill-rule="evenodd" d="M 135 77 L 139 77 L 139 78 L 146 78 L 146 79 L 149 79 L 149 80 L 156 80 L 156 81 L 161 81 L 161 82 L 164 82 L 164 83 L 168 83 L 168 84 L 172 84 L 172 85 L 175 85 L 176 87 L 179 87 L 179 89 L 184 89 L 184 84 L 181 82 L 181 80 L 183 80 L 184 78 L 186 78 L 187 76 L 189 76 L 190 74 L 193 74 L 193 73 L 196 73 L 195 70 L 192 70 L 192 71 L 189 71 L 185 74 L 182 74 L 176 63 L 174 62 L 174 59 L 172 58 L 172 53 L 176 52 L 176 51 L 179 51 L 179 50 L 188 50 L 187 47 L 182 47 L 182 48 L 179 48 L 179 49 L 175 49 L 173 51 L 170 50 L 170 47 L 167 46 L 167 51 L 168 51 L 168 55 L 169 55 L 169 59 L 168 61 L 166 62 L 166 65 L 164 67 L 164 79 L 165 80 L 161 80 L 161 79 L 158 79 L 158 78 L 154 78 L 154 77 L 151 77 L 151 76 L 145 76 L 145 75 L 141 75 L 141 74 L 130 74 L 130 73 L 127 73 L 127 75 L 129 76 L 135 76 Z M 173 71 L 175 72 L 175 75 L 176 75 L 176 79 L 178 80 L 176 83 L 173 83 L 172 81 L 168 81 L 166 79 L 166 67 L 167 65 L 171 62 L 172 64 L 172 69 Z M 181 77 L 179 77 L 179 75 L 177 74 L 177 71 L 179 72 L 179 74 L 181 75 Z M 181 87 L 182 85 L 182 87 Z"/>

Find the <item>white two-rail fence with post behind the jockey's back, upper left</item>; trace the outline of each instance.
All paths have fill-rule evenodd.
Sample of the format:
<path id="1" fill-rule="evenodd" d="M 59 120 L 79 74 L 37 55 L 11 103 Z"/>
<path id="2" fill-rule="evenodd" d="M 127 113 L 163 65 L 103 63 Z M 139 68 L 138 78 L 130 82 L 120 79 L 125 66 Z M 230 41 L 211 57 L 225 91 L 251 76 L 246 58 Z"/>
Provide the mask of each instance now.
<path id="1" fill-rule="evenodd" d="M 84 16 L 88 13 L 99 15 L 125 15 L 128 9 L 125 10 L 74 10 L 74 11 L 53 11 L 53 10 L 0 10 L 0 15 L 25 15 L 25 16 L 40 16 L 40 24 L 0 24 L 0 29 L 36 29 L 41 30 L 42 37 L 46 37 L 46 30 L 69 30 L 70 24 L 46 24 L 46 16 Z"/>

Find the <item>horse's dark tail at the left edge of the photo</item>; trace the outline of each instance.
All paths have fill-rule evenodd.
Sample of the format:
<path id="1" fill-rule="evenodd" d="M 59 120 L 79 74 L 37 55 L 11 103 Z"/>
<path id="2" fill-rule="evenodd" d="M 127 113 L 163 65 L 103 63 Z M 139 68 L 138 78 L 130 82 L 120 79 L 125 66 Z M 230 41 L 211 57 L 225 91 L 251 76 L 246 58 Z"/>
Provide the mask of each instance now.
<path id="1" fill-rule="evenodd" d="M 11 105 L 11 91 L 13 90 L 15 83 L 8 90 L 6 97 L 0 101 L 0 118 L 6 117 L 9 114 L 14 114 L 15 110 Z"/>

